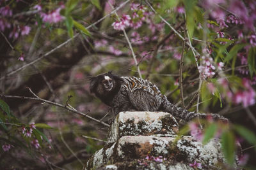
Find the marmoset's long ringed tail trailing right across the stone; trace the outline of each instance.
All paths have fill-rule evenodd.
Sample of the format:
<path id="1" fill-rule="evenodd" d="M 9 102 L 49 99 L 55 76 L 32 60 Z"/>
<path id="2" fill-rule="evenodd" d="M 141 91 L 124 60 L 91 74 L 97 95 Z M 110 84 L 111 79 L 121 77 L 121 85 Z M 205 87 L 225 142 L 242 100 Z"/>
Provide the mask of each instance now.
<path id="1" fill-rule="evenodd" d="M 222 117 L 218 114 L 205 114 L 205 113 L 195 113 L 195 111 L 190 112 L 188 110 L 185 110 L 183 108 L 179 108 L 175 106 L 174 104 L 170 103 L 168 101 L 167 97 L 164 96 L 163 101 L 163 109 L 164 111 L 171 113 L 174 117 L 181 118 L 182 120 L 185 120 L 186 122 L 189 122 L 190 120 L 193 120 L 194 118 L 202 118 L 206 119 L 207 117 L 211 117 L 213 120 L 220 120 L 221 122 L 228 123 L 228 119 L 225 117 Z"/>

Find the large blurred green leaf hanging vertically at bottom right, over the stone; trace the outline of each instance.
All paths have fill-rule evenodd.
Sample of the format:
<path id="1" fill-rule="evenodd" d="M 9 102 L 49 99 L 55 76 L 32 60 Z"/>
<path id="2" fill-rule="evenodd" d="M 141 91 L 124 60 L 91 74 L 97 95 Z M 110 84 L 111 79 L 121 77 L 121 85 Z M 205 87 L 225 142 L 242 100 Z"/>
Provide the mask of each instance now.
<path id="1" fill-rule="evenodd" d="M 221 136 L 221 148 L 228 164 L 232 166 L 235 160 L 235 138 L 232 132 L 223 132 Z"/>

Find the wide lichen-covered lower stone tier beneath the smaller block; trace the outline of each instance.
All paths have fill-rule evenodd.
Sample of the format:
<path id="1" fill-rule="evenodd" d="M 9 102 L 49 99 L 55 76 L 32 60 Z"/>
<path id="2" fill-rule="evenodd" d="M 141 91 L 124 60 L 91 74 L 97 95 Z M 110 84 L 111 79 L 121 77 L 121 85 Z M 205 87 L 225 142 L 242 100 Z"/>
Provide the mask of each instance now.
<path id="1" fill-rule="evenodd" d="M 145 160 L 147 155 L 161 155 L 170 168 L 174 168 L 178 162 L 184 164 L 184 167 L 189 167 L 194 161 L 200 162 L 203 168 L 216 167 L 224 162 L 220 147 L 220 143 L 214 139 L 202 145 L 191 136 L 182 136 L 179 140 L 176 136 L 123 136 L 113 145 L 107 145 L 96 152 L 88 160 L 87 167 L 90 169 L 118 162 L 132 162 L 140 166 L 138 160 Z"/>

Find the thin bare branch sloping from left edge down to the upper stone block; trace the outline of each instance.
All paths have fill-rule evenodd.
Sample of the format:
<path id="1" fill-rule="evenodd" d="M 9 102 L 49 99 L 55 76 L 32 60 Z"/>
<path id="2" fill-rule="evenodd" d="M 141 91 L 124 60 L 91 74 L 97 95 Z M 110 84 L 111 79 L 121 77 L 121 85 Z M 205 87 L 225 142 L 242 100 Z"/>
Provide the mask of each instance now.
<path id="1" fill-rule="evenodd" d="M 33 93 L 32 93 L 33 94 Z M 109 124 L 106 124 L 100 120 L 97 120 L 96 118 L 93 118 L 93 117 L 90 117 L 88 115 L 86 115 L 85 113 L 81 112 L 81 111 L 77 111 L 77 110 L 73 110 L 71 108 L 68 108 L 68 107 L 65 107 L 65 105 L 63 104 L 60 104 L 60 103 L 55 103 L 55 102 L 52 102 L 52 101 L 47 101 L 45 99 L 41 99 L 40 97 L 24 97 L 24 96 L 6 96 L 6 95 L 3 95 L 3 94 L 0 94 L 0 97 L 4 97 L 4 98 L 13 98 L 13 99 L 26 99 L 26 100 L 33 100 L 33 101 L 40 101 L 40 102 L 43 102 L 43 103 L 48 103 L 48 104 L 51 104 L 51 105 L 54 105 L 54 106 L 58 106 L 60 108 L 64 108 L 68 111 L 72 111 L 73 113 L 76 113 L 78 115 L 81 115 L 83 117 L 86 117 L 86 118 L 89 118 L 90 120 L 93 120 L 95 122 L 98 122 L 99 124 L 102 124 L 106 127 L 109 127 Z"/>

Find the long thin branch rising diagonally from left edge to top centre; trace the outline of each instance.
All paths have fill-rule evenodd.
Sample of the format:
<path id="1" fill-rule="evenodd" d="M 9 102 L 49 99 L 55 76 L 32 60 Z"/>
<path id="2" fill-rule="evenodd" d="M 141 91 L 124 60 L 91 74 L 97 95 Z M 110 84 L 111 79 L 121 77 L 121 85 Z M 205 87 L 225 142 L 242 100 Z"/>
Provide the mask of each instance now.
<path id="1" fill-rule="evenodd" d="M 94 25 L 98 24 L 99 22 L 101 22 L 102 20 L 104 20 L 106 17 L 109 17 L 110 15 L 112 15 L 113 13 L 115 13 L 116 11 L 120 10 L 120 8 L 122 8 L 125 4 L 127 4 L 130 0 L 125 1 L 124 3 L 120 4 L 120 6 L 118 6 L 115 10 L 111 11 L 108 15 L 105 15 L 104 17 L 100 18 L 99 20 L 97 20 L 96 22 L 94 22 L 93 24 L 89 25 L 88 27 L 86 27 L 86 29 L 90 29 L 90 27 L 93 27 Z M 15 69 L 14 71 L 7 73 L 6 75 L 2 76 L 0 78 L 0 80 L 3 80 L 6 76 L 11 76 L 12 74 L 17 73 L 18 71 L 21 71 L 22 69 L 30 66 L 31 64 L 35 64 L 36 62 L 38 62 L 39 60 L 43 59 L 44 57 L 47 57 L 48 55 L 50 55 L 51 53 L 55 52 L 56 50 L 60 49 L 62 46 L 67 45 L 67 43 L 69 43 L 70 41 L 72 41 L 72 39 L 77 38 L 77 36 L 79 36 L 80 33 L 77 33 L 76 35 L 74 35 L 72 38 L 67 39 L 67 41 L 61 43 L 60 45 L 56 46 L 55 48 L 53 48 L 52 50 L 50 50 L 49 52 L 45 53 L 44 55 L 39 55 L 38 59 L 33 60 L 32 62 L 29 62 L 28 64 L 19 67 L 18 69 Z"/>

